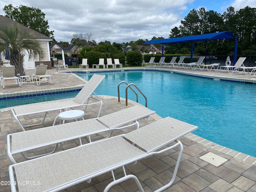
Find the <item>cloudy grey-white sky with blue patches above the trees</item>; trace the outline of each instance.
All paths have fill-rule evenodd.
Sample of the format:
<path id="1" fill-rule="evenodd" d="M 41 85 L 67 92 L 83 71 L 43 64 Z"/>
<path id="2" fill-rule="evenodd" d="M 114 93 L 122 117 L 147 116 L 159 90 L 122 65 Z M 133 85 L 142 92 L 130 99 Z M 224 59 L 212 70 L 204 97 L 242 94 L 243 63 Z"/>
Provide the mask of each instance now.
<path id="1" fill-rule="evenodd" d="M 256 0 L 0 0 L 3 8 L 12 4 L 39 8 L 54 30 L 56 41 L 67 41 L 73 34 L 93 34 L 97 43 L 151 40 L 153 36 L 168 38 L 170 31 L 190 10 L 205 7 L 223 13 L 230 6 L 235 10 L 255 7 Z"/>

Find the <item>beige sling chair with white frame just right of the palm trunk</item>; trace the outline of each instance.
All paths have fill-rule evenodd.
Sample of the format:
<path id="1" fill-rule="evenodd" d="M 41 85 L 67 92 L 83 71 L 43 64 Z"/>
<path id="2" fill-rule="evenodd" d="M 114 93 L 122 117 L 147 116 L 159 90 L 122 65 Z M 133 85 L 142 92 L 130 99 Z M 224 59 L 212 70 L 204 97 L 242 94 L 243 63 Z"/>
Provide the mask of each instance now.
<path id="1" fill-rule="evenodd" d="M 45 78 L 46 83 L 51 82 L 51 84 L 54 84 L 54 76 L 53 75 L 47 75 L 46 74 L 47 65 L 38 65 L 36 66 L 36 74 L 32 74 L 32 82 L 40 86 L 40 79 Z M 37 80 L 38 79 L 38 80 Z M 53 81 L 52 81 L 53 79 Z"/>

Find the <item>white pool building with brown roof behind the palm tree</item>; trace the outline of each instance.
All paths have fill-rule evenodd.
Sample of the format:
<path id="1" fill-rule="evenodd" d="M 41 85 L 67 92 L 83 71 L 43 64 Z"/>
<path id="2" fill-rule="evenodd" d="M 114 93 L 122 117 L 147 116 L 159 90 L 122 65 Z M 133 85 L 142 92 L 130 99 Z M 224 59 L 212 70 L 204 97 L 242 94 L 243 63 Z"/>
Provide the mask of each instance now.
<path id="1" fill-rule="evenodd" d="M 29 70 L 29 69 L 35 69 L 35 66 L 37 66 L 39 63 L 44 63 L 48 65 L 48 68 L 52 68 L 51 60 L 50 60 L 50 50 L 49 50 L 49 42 L 52 40 L 50 37 L 45 36 L 35 30 L 32 30 L 22 24 L 19 24 L 18 22 L 11 20 L 3 15 L 0 15 L 0 25 L 4 24 L 12 24 L 16 23 L 20 25 L 20 27 L 25 30 L 26 32 L 31 33 L 41 44 L 44 52 L 45 52 L 45 57 L 42 60 L 39 60 L 38 57 L 35 57 L 34 59 L 29 59 L 28 58 L 28 52 L 25 51 L 25 56 L 24 56 L 24 69 Z M 8 63 L 8 60 L 5 60 L 4 53 L 1 53 L 1 61 L 3 63 Z"/>

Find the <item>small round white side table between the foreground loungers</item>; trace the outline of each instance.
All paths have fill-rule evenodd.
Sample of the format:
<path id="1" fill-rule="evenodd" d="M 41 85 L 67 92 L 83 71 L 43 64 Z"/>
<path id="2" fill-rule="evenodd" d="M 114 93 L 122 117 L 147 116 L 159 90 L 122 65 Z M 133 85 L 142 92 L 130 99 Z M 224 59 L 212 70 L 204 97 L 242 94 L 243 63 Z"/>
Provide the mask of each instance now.
<path id="1" fill-rule="evenodd" d="M 61 120 L 63 120 L 62 124 L 64 124 L 65 120 L 76 120 L 83 118 L 84 116 L 84 111 L 82 110 L 69 110 L 69 111 L 64 111 L 61 112 L 58 116 L 56 116 L 56 118 L 54 119 L 53 125 L 55 125 L 56 120 L 59 118 L 60 119 L 60 124 L 61 124 Z"/>

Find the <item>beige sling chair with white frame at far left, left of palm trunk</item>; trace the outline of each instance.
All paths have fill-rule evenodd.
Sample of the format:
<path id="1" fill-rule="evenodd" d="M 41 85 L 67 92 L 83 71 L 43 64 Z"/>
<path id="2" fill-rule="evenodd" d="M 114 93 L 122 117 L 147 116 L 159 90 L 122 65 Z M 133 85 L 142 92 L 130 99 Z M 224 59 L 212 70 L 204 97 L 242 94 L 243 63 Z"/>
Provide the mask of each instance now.
<path id="1" fill-rule="evenodd" d="M 13 65 L 5 65 L 2 66 L 3 75 L 0 76 L 1 86 L 5 88 L 4 81 L 5 80 L 16 80 L 16 85 L 21 87 L 21 79 L 15 76 L 15 66 Z"/>

